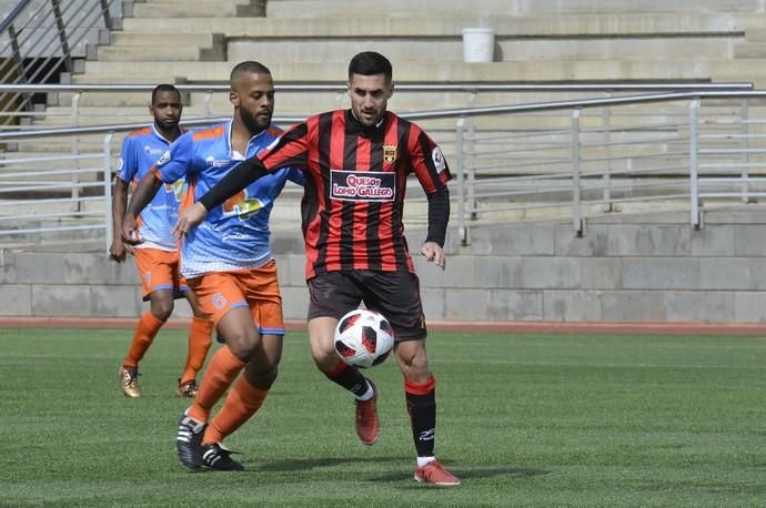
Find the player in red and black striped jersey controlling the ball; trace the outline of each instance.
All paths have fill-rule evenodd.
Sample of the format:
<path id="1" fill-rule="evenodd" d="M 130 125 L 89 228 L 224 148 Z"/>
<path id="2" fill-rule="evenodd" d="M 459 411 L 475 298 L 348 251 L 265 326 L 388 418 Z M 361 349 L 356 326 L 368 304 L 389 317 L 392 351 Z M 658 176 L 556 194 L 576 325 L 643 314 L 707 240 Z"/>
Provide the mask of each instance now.
<path id="1" fill-rule="evenodd" d="M 392 93 L 389 60 L 375 52 L 355 55 L 349 65 L 351 109 L 311 116 L 286 131 L 179 214 L 175 232 L 194 234 L 192 227 L 209 211 L 245 185 L 284 166 L 300 167 L 306 179 L 302 227 L 314 362 L 355 396 L 356 434 L 362 443 L 374 444 L 377 389 L 359 369 L 339 360 L 333 331 L 339 318 L 362 302 L 386 316 L 404 375 L 417 455 L 415 480 L 454 486 L 460 479 L 434 456 L 436 380 L 429 368 L 419 280 L 402 224 L 406 179 L 414 173 L 429 199 L 429 231 L 420 252 L 444 268 L 451 174 L 441 150 L 421 128 L 386 111 Z"/>

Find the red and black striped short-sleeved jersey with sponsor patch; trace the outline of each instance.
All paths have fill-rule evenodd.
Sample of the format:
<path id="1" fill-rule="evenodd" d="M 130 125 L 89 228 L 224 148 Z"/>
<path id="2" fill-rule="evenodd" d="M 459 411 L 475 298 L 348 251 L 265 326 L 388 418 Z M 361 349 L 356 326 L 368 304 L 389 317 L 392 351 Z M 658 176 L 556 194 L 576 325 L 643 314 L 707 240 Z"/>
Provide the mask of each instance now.
<path id="1" fill-rule="evenodd" d="M 429 195 L 452 177 L 436 143 L 391 112 L 374 128 L 351 110 L 311 116 L 258 158 L 268 171 L 304 172 L 306 278 L 340 270 L 414 273 L 402 223 L 407 175 Z"/>

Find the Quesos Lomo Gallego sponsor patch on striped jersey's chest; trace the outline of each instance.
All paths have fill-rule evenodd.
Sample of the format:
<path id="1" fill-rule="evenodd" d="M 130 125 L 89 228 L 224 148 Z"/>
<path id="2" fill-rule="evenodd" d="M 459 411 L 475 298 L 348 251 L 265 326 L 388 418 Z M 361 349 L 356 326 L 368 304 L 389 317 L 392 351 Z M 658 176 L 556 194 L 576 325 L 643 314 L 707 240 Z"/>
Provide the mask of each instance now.
<path id="1" fill-rule="evenodd" d="M 331 170 L 330 196 L 342 201 L 394 201 L 396 173 Z"/>

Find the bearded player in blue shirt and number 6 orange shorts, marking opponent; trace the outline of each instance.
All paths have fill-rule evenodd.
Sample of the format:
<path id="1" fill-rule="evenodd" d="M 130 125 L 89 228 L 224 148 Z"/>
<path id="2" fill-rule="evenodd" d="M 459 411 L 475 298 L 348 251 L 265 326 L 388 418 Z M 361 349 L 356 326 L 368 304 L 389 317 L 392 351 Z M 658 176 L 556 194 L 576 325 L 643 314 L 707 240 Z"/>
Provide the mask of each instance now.
<path id="1" fill-rule="evenodd" d="M 131 242 L 137 231 L 135 214 L 164 184 L 185 179 L 187 199 L 196 200 L 240 161 L 281 135 L 271 125 L 274 84 L 269 69 L 258 62 L 238 64 L 231 73 L 230 101 L 234 116 L 229 123 L 182 135 L 141 180 L 125 215 L 125 241 Z M 178 456 L 189 468 L 243 468 L 231 459 L 223 439 L 255 414 L 276 379 L 284 322 L 269 217 L 288 180 L 303 184 L 301 172 L 276 171 L 211 210 L 182 241 L 181 273 L 225 337 L 225 345 L 211 357 L 194 403 L 179 419 Z M 211 420 L 213 406 L 232 384 Z"/>

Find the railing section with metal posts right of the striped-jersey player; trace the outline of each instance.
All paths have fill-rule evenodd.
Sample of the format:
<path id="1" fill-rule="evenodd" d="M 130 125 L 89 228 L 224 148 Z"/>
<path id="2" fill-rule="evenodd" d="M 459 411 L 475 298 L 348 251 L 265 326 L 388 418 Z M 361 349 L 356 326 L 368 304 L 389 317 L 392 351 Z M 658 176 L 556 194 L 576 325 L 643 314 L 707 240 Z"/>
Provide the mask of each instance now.
<path id="1" fill-rule="evenodd" d="M 704 206 L 766 196 L 764 98 L 672 92 L 464 112 L 461 238 L 493 214 L 568 219 L 582 235 L 588 215 L 681 207 L 701 227 Z"/>

